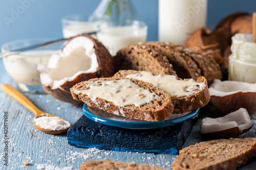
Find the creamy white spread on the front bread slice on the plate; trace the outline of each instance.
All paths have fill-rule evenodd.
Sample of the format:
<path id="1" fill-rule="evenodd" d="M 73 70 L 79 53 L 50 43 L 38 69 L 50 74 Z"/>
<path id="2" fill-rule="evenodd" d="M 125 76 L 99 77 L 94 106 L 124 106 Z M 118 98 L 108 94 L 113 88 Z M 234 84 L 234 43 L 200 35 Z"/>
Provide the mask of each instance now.
<path id="1" fill-rule="evenodd" d="M 72 91 L 75 94 L 85 94 L 92 101 L 101 98 L 109 102 L 113 102 L 117 106 L 135 105 L 140 107 L 150 103 L 154 99 L 159 98 L 156 93 L 150 92 L 148 89 L 139 87 L 130 79 L 111 80 L 111 81 L 88 81 L 88 89 Z"/>

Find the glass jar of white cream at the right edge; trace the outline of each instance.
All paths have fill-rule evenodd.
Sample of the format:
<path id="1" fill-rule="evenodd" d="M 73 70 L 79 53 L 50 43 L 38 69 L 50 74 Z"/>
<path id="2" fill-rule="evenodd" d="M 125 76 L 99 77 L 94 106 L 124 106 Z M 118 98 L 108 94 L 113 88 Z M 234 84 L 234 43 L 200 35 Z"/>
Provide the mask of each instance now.
<path id="1" fill-rule="evenodd" d="M 236 34 L 232 38 L 228 80 L 256 82 L 256 43 L 252 34 Z"/>

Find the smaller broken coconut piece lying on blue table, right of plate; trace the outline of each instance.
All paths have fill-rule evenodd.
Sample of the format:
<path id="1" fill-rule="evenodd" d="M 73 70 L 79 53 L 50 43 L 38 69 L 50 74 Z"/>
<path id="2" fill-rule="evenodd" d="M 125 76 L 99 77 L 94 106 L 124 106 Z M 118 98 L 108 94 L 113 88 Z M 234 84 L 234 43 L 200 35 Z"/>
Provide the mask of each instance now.
<path id="1" fill-rule="evenodd" d="M 201 122 L 201 133 L 220 137 L 233 137 L 249 131 L 252 120 L 245 108 L 231 112 L 224 117 L 206 117 Z"/>

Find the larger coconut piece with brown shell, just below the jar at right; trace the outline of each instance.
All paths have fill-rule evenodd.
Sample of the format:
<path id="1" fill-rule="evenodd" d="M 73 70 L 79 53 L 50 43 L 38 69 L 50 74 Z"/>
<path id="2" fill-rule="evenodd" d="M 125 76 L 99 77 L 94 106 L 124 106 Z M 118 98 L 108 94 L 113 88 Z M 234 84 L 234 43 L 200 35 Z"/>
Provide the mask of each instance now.
<path id="1" fill-rule="evenodd" d="M 209 93 L 210 103 L 223 114 L 240 108 L 246 108 L 250 116 L 256 113 L 256 84 L 216 79 Z"/>

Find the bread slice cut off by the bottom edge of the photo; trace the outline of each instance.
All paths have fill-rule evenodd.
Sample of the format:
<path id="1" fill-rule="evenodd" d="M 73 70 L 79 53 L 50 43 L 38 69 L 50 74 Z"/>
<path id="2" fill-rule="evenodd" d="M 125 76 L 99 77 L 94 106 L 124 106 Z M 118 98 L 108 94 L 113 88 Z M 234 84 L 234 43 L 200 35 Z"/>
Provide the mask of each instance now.
<path id="1" fill-rule="evenodd" d="M 114 162 L 112 160 L 90 160 L 82 163 L 81 170 L 167 170 L 158 166 L 148 164 L 137 164 L 135 162 Z"/>

